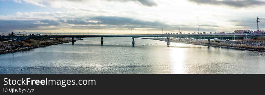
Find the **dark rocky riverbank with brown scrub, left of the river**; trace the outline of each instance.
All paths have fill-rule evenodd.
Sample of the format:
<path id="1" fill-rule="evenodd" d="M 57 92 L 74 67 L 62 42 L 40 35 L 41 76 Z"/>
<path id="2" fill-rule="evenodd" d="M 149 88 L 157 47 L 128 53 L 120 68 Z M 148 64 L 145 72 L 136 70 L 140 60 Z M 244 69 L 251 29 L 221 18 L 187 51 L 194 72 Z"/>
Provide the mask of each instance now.
<path id="1" fill-rule="evenodd" d="M 83 39 L 74 39 L 83 40 Z M 0 54 L 24 51 L 39 47 L 57 45 L 62 43 L 70 43 L 72 39 L 48 39 L 46 37 L 33 38 L 20 42 L 0 43 Z"/>

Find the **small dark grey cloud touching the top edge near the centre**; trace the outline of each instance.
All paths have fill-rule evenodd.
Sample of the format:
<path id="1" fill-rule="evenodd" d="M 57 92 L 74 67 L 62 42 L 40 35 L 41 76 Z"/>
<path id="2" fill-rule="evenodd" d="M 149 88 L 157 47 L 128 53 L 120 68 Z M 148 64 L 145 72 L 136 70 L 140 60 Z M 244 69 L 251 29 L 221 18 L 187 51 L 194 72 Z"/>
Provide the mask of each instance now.
<path id="1" fill-rule="evenodd" d="M 142 5 L 145 6 L 157 6 L 157 3 L 154 2 L 153 0 L 107 0 L 107 1 L 120 1 L 120 2 L 128 2 L 128 1 L 135 1 L 135 2 L 139 2 Z"/>

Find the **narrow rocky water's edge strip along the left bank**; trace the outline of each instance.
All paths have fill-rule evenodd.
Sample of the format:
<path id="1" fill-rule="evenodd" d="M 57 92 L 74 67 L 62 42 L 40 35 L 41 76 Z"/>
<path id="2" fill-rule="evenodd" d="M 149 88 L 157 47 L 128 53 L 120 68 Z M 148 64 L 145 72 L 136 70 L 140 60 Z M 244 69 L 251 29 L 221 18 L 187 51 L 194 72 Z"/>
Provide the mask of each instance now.
<path id="1" fill-rule="evenodd" d="M 78 40 L 83 40 L 81 38 L 79 39 L 74 39 L 74 41 L 78 41 Z M 41 47 L 46 47 L 46 46 L 52 46 L 52 45 L 58 45 L 58 44 L 63 44 L 63 43 L 71 43 L 72 41 L 68 41 L 68 42 L 61 42 L 61 43 L 52 43 L 52 44 L 48 44 L 48 45 L 42 45 L 42 46 L 31 46 L 28 48 L 20 48 L 20 49 L 16 49 L 16 50 L 10 50 L 10 51 L 6 51 L 6 52 L 0 52 L 0 54 L 7 54 L 7 53 L 14 53 L 14 52 L 19 52 L 19 51 L 26 51 L 26 50 L 30 50 L 30 49 L 35 49 L 35 48 L 41 48 Z"/>

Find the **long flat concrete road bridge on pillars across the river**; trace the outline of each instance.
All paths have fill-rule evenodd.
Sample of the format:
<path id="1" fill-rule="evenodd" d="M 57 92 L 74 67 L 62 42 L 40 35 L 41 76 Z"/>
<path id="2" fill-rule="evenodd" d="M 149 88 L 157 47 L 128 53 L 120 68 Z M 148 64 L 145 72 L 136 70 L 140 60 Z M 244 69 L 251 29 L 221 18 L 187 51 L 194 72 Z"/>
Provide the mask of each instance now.
<path id="1" fill-rule="evenodd" d="M 174 38 L 197 38 L 197 39 L 208 39 L 208 43 L 210 43 L 210 39 L 218 38 L 218 39 L 243 39 L 244 36 L 250 34 L 134 34 L 134 35 L 49 35 L 49 38 L 72 38 L 72 43 L 74 44 L 74 38 L 101 38 L 101 45 L 103 45 L 103 38 L 114 38 L 114 37 L 130 37 L 133 39 L 132 44 L 134 45 L 134 38 L 139 37 L 166 37 L 167 45 L 170 45 L 169 39 L 170 37 Z"/>

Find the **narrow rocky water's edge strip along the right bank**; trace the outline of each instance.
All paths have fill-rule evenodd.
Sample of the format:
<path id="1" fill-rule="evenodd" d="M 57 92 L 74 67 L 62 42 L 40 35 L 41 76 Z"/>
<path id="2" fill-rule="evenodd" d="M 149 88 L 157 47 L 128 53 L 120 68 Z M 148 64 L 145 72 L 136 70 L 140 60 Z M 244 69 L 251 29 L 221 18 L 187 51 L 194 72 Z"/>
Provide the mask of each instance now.
<path id="1" fill-rule="evenodd" d="M 149 40 L 160 40 L 167 42 L 166 40 L 160 39 L 160 38 L 141 38 L 141 39 L 149 39 Z M 184 44 L 192 44 L 192 45 L 201 45 L 201 46 L 212 46 L 212 47 L 221 47 L 221 48 L 227 48 L 227 49 L 236 49 L 236 50 L 247 50 L 247 51 L 256 51 L 256 52 L 262 52 L 264 53 L 265 50 L 262 49 L 248 49 L 248 48 L 239 48 L 239 47 L 230 47 L 230 46 L 218 46 L 218 45 L 211 45 L 211 44 L 200 44 L 200 43 L 189 43 L 189 42 L 180 42 L 180 41 L 172 41 L 173 43 L 184 43 Z"/>

